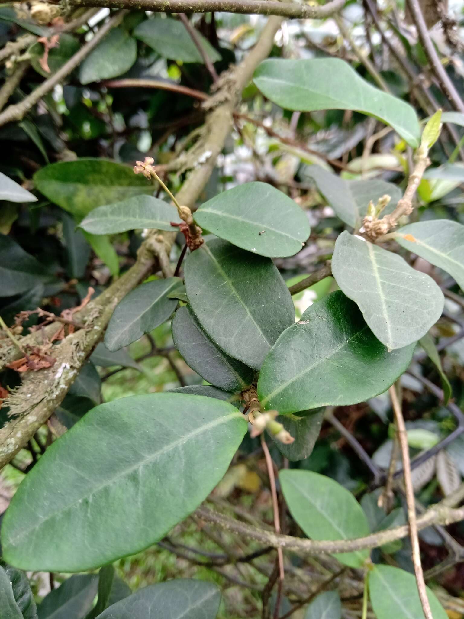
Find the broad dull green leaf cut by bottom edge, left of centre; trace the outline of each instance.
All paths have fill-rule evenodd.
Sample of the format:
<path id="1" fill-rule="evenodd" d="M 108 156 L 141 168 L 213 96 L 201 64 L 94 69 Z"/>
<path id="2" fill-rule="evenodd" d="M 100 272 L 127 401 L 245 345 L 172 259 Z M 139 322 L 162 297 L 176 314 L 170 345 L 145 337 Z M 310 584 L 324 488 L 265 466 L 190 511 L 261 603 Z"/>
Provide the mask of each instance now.
<path id="1" fill-rule="evenodd" d="M 212 582 L 179 578 L 139 589 L 98 619 L 215 619 L 220 601 Z"/>

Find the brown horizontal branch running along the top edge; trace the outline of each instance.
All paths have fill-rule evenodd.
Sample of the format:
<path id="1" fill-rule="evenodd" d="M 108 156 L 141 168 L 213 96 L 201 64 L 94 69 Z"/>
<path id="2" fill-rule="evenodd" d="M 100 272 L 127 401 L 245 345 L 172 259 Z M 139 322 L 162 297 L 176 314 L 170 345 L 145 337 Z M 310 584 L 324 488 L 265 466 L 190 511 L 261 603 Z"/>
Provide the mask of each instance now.
<path id="1" fill-rule="evenodd" d="M 59 4 L 54 0 L 51 4 Z M 68 0 L 69 6 L 110 7 L 153 11 L 155 13 L 226 13 L 280 15 L 288 19 L 323 19 L 342 9 L 345 0 L 332 0 L 323 6 L 293 4 L 278 0 Z"/>

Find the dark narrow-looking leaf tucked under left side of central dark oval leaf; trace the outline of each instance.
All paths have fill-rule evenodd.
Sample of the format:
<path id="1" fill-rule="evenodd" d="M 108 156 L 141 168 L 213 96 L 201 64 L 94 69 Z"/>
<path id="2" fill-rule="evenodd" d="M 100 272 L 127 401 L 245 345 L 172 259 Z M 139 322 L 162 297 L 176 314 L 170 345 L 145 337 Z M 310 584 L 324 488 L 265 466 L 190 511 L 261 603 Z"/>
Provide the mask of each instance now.
<path id="1" fill-rule="evenodd" d="M 205 381 L 225 391 L 243 391 L 254 371 L 229 357 L 205 334 L 189 307 L 179 308 L 171 324 L 174 346 L 186 363 Z"/>

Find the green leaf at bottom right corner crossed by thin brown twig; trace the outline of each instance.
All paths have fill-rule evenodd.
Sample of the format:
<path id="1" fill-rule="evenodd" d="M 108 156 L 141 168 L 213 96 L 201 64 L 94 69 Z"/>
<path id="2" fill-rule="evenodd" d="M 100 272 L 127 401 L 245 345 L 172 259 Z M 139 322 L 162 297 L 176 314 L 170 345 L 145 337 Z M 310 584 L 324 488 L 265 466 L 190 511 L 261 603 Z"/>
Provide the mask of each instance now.
<path id="1" fill-rule="evenodd" d="M 434 619 L 447 619 L 435 594 L 426 587 Z M 374 565 L 369 571 L 369 594 L 377 619 L 424 619 L 416 579 L 403 569 Z"/>

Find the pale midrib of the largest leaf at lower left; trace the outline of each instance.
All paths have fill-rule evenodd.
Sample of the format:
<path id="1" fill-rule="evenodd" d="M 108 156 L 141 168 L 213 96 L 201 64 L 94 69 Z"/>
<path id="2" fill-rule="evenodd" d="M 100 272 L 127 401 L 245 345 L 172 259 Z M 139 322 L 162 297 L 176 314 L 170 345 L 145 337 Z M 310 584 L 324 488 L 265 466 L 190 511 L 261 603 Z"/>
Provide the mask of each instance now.
<path id="1" fill-rule="evenodd" d="M 23 537 L 24 535 L 30 534 L 31 531 L 38 531 L 38 530 L 40 530 L 41 527 L 43 526 L 43 524 L 45 522 L 48 522 L 53 517 L 57 516 L 58 514 L 62 514 L 64 512 L 66 512 L 69 508 L 74 507 L 76 504 L 80 503 L 82 500 L 90 498 L 95 493 L 97 493 L 98 491 L 102 490 L 102 488 L 106 488 L 107 486 L 112 485 L 113 482 L 115 482 L 116 480 L 118 480 L 118 479 L 120 479 L 122 477 L 126 477 L 127 475 L 130 475 L 132 472 L 134 472 L 134 470 L 141 469 L 142 467 L 145 467 L 145 465 L 150 464 L 150 462 L 153 462 L 153 461 L 157 460 L 159 456 L 163 456 L 163 454 L 165 454 L 165 453 L 167 453 L 169 451 L 172 451 L 173 449 L 178 447 L 180 444 L 187 443 L 189 440 L 191 440 L 195 436 L 201 435 L 205 431 L 208 431 L 211 428 L 215 428 L 216 426 L 220 426 L 223 423 L 227 423 L 227 422 L 233 420 L 234 418 L 243 418 L 243 415 L 239 411 L 234 412 L 234 413 L 228 413 L 227 415 L 223 415 L 222 417 L 219 417 L 219 418 L 213 420 L 212 422 L 209 422 L 209 423 L 207 423 L 205 425 L 202 425 L 202 426 L 198 426 L 197 428 L 195 428 L 195 430 L 192 430 L 188 434 L 183 435 L 180 438 L 178 438 L 176 441 L 173 441 L 169 445 L 165 445 L 163 448 L 159 449 L 158 451 L 155 451 L 153 454 L 150 454 L 150 456 L 146 457 L 144 459 L 144 461 L 137 462 L 137 464 L 132 465 L 128 469 L 124 469 L 124 471 L 122 471 L 121 473 L 119 473 L 117 475 L 114 475 L 114 477 L 111 477 L 110 480 L 106 480 L 105 483 L 101 483 L 97 487 L 93 488 L 92 492 L 88 493 L 88 495 L 82 495 L 82 496 L 80 496 L 79 499 L 77 499 L 75 501 L 72 501 L 72 503 L 67 504 L 66 507 L 64 507 L 63 509 L 60 509 L 59 511 L 55 511 L 53 514 L 49 514 L 49 516 L 47 516 L 46 518 L 43 518 L 40 521 L 40 523 L 38 523 L 37 525 L 32 526 L 29 529 L 23 529 L 14 538 L 9 540 L 9 544 L 10 545 L 14 545 L 15 542 L 17 542 L 17 540 L 20 539 L 21 537 Z"/>

